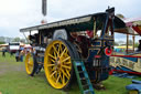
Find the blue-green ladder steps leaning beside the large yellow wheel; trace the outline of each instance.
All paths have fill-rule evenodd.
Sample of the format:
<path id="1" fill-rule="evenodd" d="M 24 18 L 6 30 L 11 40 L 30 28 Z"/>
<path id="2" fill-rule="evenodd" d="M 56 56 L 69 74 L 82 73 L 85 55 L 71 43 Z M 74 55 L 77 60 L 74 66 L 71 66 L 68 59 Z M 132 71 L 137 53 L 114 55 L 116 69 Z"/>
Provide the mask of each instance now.
<path id="1" fill-rule="evenodd" d="M 88 73 L 82 60 L 73 60 L 75 74 L 82 94 L 95 94 Z M 83 76 L 83 77 L 82 77 Z"/>

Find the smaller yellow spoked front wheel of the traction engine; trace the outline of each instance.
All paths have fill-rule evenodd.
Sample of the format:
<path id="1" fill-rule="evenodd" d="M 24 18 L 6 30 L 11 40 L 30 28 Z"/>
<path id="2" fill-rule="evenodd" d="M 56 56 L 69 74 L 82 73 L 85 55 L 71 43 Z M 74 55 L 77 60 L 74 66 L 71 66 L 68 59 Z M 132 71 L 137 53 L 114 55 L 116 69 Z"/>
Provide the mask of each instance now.
<path id="1" fill-rule="evenodd" d="M 33 69 L 34 69 L 33 55 L 31 53 L 28 53 L 25 56 L 25 71 L 29 75 L 33 75 Z"/>

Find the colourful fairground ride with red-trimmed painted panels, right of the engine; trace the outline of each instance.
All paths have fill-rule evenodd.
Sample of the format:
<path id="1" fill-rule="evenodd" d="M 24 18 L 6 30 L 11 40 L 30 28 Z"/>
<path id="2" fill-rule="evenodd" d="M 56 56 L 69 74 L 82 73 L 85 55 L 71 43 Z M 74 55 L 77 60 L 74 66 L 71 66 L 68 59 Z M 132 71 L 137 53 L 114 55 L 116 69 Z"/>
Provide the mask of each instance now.
<path id="1" fill-rule="evenodd" d="M 115 32 L 127 35 L 127 48 L 124 53 L 113 52 L 110 56 L 111 72 L 126 72 L 141 75 L 141 50 L 134 50 L 137 35 L 141 35 L 141 19 L 126 21 L 126 28 L 117 29 Z M 132 35 L 132 49 L 129 50 L 129 35 Z"/>

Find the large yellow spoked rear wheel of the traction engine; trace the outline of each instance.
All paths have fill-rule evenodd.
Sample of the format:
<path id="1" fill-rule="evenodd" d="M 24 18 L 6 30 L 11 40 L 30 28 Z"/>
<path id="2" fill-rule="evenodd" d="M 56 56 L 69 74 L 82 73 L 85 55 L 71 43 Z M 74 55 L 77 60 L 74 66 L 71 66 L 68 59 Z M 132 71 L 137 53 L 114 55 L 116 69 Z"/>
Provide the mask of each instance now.
<path id="1" fill-rule="evenodd" d="M 47 45 L 44 70 L 48 83 L 54 88 L 66 88 L 69 85 L 73 64 L 69 48 L 65 42 L 55 40 Z"/>

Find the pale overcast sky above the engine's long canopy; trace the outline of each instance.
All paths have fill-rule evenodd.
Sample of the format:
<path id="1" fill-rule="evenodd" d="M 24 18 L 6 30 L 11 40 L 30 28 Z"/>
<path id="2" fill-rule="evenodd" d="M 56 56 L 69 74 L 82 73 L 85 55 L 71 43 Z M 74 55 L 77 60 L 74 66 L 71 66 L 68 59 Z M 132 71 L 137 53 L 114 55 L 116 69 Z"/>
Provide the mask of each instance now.
<path id="1" fill-rule="evenodd" d="M 23 36 L 21 28 L 41 24 L 42 0 L 0 0 L 0 36 Z M 105 11 L 141 17 L 141 0 L 47 0 L 47 22 Z"/>

